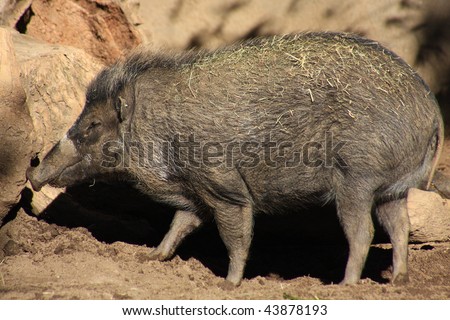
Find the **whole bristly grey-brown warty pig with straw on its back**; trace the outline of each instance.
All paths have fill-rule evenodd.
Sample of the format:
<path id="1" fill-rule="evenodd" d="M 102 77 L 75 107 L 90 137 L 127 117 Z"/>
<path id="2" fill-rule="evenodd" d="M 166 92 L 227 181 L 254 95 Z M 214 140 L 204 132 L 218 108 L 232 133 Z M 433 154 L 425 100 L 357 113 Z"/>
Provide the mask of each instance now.
<path id="1" fill-rule="evenodd" d="M 136 50 L 101 71 L 67 134 L 27 176 L 39 190 L 125 179 L 174 206 L 150 255 L 170 258 L 213 218 L 238 285 L 253 215 L 333 201 L 349 243 L 343 283 L 358 282 L 371 213 L 407 280 L 404 198 L 427 188 L 443 141 L 421 78 L 376 42 L 349 34 L 262 37 L 219 50 Z"/>

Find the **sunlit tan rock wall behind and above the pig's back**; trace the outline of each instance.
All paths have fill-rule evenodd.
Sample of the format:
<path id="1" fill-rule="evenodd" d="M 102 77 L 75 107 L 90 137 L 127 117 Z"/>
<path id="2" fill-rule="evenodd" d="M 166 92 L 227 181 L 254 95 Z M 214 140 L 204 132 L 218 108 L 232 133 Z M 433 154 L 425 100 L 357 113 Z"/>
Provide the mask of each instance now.
<path id="1" fill-rule="evenodd" d="M 418 2 L 416 4 L 416 2 Z M 186 49 L 305 30 L 351 31 L 405 51 L 421 2 L 381 0 L 121 0 L 145 42 Z M 413 53 L 411 53 L 413 54 Z"/>

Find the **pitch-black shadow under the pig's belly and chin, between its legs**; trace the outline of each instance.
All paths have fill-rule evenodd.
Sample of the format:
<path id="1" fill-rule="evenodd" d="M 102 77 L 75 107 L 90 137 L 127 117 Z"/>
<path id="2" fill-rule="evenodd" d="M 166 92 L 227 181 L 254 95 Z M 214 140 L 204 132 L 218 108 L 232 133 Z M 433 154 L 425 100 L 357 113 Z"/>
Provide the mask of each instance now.
<path id="1" fill-rule="evenodd" d="M 173 215 L 172 208 L 155 203 L 128 186 L 96 184 L 69 189 L 39 218 L 69 228 L 87 228 L 101 242 L 154 247 L 168 230 Z M 379 227 L 377 235 L 375 242 L 386 240 Z M 188 237 L 177 254 L 183 260 L 193 257 L 215 275 L 226 276 L 227 252 L 213 222 Z M 257 215 L 245 277 L 311 276 L 327 284 L 338 283 L 344 275 L 347 254 L 332 206 L 283 216 Z M 363 277 L 384 283 L 382 272 L 390 264 L 391 250 L 373 247 Z"/>

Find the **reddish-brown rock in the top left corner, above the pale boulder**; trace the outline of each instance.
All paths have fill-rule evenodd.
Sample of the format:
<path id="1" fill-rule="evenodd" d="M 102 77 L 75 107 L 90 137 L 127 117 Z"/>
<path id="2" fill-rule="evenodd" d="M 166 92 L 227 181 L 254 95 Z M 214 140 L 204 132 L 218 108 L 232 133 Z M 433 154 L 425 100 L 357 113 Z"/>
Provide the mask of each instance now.
<path id="1" fill-rule="evenodd" d="M 3 24 L 48 43 L 83 49 L 103 63 L 112 63 L 141 42 L 120 5 L 112 0 L 8 3 L 0 20 Z M 18 12 L 22 12 L 20 18 Z"/>

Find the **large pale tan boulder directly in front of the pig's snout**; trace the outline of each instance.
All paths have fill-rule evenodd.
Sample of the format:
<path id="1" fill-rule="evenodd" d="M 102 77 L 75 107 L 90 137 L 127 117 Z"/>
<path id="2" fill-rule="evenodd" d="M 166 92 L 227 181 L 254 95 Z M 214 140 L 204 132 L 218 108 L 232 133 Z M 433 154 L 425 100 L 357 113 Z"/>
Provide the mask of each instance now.
<path id="1" fill-rule="evenodd" d="M 80 49 L 0 28 L 0 221 L 20 199 L 30 160 L 72 125 L 101 67 Z M 60 192 L 37 193 L 35 202 L 44 207 Z"/>

